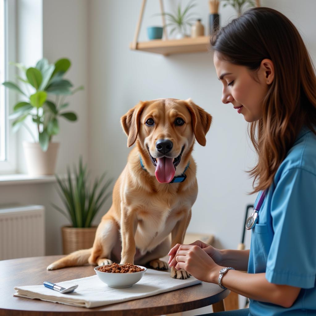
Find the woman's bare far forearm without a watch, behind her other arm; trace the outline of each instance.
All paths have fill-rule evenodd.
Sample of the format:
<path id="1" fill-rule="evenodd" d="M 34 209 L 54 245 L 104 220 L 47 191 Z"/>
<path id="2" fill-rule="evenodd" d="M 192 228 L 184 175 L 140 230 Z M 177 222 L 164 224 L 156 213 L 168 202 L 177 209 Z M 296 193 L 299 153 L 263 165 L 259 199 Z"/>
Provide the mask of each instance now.
<path id="1" fill-rule="evenodd" d="M 236 270 L 247 271 L 249 250 L 221 250 L 222 261 L 218 263 L 224 267 L 233 267 Z"/>

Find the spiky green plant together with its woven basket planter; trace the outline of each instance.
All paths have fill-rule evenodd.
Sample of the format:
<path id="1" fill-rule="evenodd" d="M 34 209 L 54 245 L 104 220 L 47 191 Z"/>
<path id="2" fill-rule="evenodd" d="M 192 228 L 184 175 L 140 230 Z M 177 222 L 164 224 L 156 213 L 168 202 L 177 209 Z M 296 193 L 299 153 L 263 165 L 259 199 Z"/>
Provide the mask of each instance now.
<path id="1" fill-rule="evenodd" d="M 74 184 L 69 167 L 67 167 L 67 179 L 64 183 L 57 174 L 55 175 L 59 186 L 57 191 L 64 203 L 65 210 L 53 203 L 52 206 L 72 223 L 71 226 L 61 228 L 64 254 L 92 247 L 97 229 L 96 226 L 91 226 L 92 221 L 112 194 L 112 192 L 106 193 L 112 179 L 108 179 L 100 188 L 105 175 L 106 173 L 103 173 L 100 179 L 95 179 L 91 188 L 88 183 L 87 165 L 82 166 L 82 157 L 79 158 L 78 171 L 74 166 Z"/>

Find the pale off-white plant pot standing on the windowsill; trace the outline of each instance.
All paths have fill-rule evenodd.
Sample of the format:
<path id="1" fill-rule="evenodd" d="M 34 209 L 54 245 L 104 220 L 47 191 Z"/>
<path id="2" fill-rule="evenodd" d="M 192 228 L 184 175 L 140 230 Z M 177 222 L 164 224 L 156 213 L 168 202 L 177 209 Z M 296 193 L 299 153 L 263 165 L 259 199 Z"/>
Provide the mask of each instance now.
<path id="1" fill-rule="evenodd" d="M 55 173 L 59 143 L 49 143 L 44 152 L 39 143 L 23 142 L 27 171 L 30 175 L 50 175 Z"/>

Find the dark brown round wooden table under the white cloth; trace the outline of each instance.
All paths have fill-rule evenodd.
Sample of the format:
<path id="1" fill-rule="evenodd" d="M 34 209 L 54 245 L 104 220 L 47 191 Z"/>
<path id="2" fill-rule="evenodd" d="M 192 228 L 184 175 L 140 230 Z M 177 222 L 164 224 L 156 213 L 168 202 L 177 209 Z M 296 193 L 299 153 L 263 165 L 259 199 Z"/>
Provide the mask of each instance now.
<path id="1" fill-rule="evenodd" d="M 15 297 L 15 286 L 39 285 L 43 281 L 58 283 L 95 274 L 94 266 L 64 268 L 48 271 L 46 267 L 62 256 L 19 258 L 0 261 L 0 315 L 27 316 L 148 316 L 187 311 L 213 304 L 214 311 L 223 309 L 223 299 L 229 290 L 217 284 L 202 283 L 141 299 L 95 308 Z"/>

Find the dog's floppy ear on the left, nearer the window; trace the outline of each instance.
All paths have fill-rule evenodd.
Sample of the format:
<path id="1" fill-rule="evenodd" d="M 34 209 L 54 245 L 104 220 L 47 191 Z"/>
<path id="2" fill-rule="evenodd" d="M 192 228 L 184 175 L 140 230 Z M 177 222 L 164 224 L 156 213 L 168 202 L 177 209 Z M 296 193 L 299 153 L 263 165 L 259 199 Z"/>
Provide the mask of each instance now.
<path id="1" fill-rule="evenodd" d="M 139 129 L 139 119 L 145 106 L 145 102 L 140 101 L 136 106 L 121 117 L 121 125 L 128 137 L 127 147 L 131 147 L 131 145 L 136 142 Z"/>

